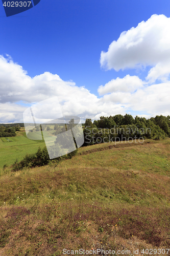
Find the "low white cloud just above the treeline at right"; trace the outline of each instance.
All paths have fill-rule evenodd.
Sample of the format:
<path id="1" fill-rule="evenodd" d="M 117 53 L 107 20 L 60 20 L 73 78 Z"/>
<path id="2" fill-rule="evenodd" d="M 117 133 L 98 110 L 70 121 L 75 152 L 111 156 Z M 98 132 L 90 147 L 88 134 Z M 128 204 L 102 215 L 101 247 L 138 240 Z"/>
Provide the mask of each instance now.
<path id="1" fill-rule="evenodd" d="M 121 104 L 126 109 L 133 111 L 147 112 L 149 116 L 170 114 L 170 81 L 160 84 L 152 84 L 130 92 L 113 92 L 104 95 L 101 101 L 108 104 Z"/>

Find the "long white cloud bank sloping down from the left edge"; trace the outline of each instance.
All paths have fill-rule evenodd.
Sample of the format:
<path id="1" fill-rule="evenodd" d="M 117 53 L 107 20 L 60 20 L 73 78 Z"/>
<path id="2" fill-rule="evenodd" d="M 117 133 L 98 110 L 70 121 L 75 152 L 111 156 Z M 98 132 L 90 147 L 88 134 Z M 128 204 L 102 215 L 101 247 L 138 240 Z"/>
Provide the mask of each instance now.
<path id="1" fill-rule="evenodd" d="M 58 75 L 45 72 L 31 78 L 25 70 L 8 57 L 0 56 L 0 122 L 23 122 L 25 105 L 16 102 L 36 103 L 54 96 L 58 97 L 63 115 L 77 115 L 84 122 L 86 118 L 96 119 L 101 113 L 125 114 L 120 104 L 101 103 L 100 99 L 84 87 L 77 87 L 72 81 L 63 81 Z M 28 105 L 29 106 L 29 105 Z M 50 115 L 51 106 L 45 110 Z"/>

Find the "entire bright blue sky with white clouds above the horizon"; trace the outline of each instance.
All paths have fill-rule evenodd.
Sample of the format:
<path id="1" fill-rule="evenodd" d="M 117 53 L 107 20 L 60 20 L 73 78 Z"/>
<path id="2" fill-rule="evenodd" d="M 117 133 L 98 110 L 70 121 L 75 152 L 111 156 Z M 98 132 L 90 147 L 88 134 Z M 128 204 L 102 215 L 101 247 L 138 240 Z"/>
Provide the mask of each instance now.
<path id="1" fill-rule="evenodd" d="M 0 123 L 54 96 L 82 122 L 170 115 L 169 16 L 166 0 L 41 0 L 10 17 L 0 3 Z"/>

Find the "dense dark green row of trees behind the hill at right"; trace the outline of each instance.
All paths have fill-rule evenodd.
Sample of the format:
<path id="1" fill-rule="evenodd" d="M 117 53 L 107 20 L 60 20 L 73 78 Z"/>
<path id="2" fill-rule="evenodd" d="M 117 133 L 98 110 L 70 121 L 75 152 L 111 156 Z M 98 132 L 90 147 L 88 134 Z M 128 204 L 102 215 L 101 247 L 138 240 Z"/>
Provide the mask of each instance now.
<path id="1" fill-rule="evenodd" d="M 165 139 L 170 137 L 170 116 L 144 117 L 126 114 L 110 117 L 101 116 L 100 120 L 86 119 L 83 146 L 109 141 L 132 139 Z"/>

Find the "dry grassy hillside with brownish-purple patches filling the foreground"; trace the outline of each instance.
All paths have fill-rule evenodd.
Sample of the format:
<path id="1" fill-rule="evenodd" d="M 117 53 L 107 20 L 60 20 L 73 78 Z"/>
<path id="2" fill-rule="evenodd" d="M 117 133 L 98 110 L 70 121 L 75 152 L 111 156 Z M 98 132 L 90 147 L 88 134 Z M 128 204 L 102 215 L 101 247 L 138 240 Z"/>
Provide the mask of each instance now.
<path id="1" fill-rule="evenodd" d="M 170 255 L 169 166 L 166 139 L 81 147 L 57 166 L 4 170 L 0 255 Z"/>

